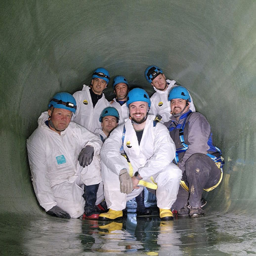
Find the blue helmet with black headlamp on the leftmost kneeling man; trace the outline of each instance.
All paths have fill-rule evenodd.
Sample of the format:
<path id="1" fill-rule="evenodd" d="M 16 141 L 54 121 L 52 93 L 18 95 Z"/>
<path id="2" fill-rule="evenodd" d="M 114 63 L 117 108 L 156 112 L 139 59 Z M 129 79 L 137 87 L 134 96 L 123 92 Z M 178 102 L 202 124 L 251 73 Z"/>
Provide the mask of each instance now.
<path id="1" fill-rule="evenodd" d="M 50 100 L 48 107 L 63 108 L 76 113 L 77 102 L 68 92 L 59 92 Z"/>

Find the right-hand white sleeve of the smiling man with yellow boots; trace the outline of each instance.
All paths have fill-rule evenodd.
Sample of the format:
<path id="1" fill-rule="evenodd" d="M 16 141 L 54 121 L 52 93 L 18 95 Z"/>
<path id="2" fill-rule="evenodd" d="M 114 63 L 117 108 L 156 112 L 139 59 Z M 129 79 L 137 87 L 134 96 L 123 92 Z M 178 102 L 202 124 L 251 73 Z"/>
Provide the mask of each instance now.
<path id="1" fill-rule="evenodd" d="M 155 128 L 154 155 L 147 160 L 144 167 L 139 168 L 140 176 L 144 179 L 149 178 L 171 164 L 175 151 L 175 144 L 168 129 L 158 123 Z"/>

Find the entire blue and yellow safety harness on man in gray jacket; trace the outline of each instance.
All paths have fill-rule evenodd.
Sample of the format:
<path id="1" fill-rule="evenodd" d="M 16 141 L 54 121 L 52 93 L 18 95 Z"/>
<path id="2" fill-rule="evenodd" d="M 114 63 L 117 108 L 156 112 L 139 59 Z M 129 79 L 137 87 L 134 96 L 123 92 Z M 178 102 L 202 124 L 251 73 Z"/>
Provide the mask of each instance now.
<path id="1" fill-rule="evenodd" d="M 192 114 L 192 113 L 189 113 L 189 114 L 186 116 L 185 120 L 183 121 L 183 123 L 182 123 L 182 125 L 181 125 L 181 128 L 179 128 L 179 139 L 180 139 L 180 143 L 181 143 L 182 147 L 176 149 L 176 153 L 175 153 L 175 157 L 174 157 L 174 162 L 175 162 L 176 165 L 177 165 L 178 162 L 179 162 L 178 154 L 179 154 L 179 153 L 182 153 L 182 152 L 185 152 L 185 151 L 188 149 L 188 145 L 185 143 L 185 140 L 184 140 L 184 130 L 183 130 L 183 129 L 184 129 L 185 125 L 186 125 L 187 118 L 190 116 L 190 114 Z M 169 128 L 169 131 L 171 131 L 171 130 L 173 130 L 173 129 L 175 129 L 175 128 Z M 211 190 L 213 190 L 215 187 L 217 187 L 217 186 L 219 185 L 219 183 L 221 182 L 222 176 L 223 176 L 222 167 L 224 166 L 224 163 L 225 163 L 225 162 L 224 162 L 223 157 L 221 156 L 221 154 L 222 154 L 222 153 L 221 153 L 221 150 L 220 150 L 218 147 L 216 147 L 216 146 L 214 146 L 214 148 L 216 149 L 217 152 L 219 152 L 219 157 L 216 157 L 216 156 L 211 155 L 211 154 L 209 154 L 209 153 L 207 154 L 207 156 L 209 156 L 209 157 L 213 160 L 213 162 L 216 164 L 217 168 L 220 169 L 221 175 L 220 175 L 220 178 L 219 178 L 218 183 L 217 183 L 216 185 L 214 185 L 213 187 L 211 187 L 211 188 L 205 188 L 205 189 L 204 189 L 205 191 L 211 191 Z M 189 191 L 188 186 L 186 185 L 186 183 L 185 183 L 184 180 L 181 180 L 181 181 L 180 181 L 180 185 L 181 185 L 184 189 L 186 189 L 187 191 Z"/>

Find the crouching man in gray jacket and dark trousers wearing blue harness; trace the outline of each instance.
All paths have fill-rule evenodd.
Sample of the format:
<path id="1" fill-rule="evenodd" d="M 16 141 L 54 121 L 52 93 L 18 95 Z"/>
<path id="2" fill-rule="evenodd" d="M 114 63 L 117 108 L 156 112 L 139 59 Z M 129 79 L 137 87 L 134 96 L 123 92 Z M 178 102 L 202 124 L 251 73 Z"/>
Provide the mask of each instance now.
<path id="1" fill-rule="evenodd" d="M 203 190 L 213 190 L 222 179 L 224 165 L 221 151 L 213 145 L 211 127 L 207 119 L 189 109 L 191 97 L 183 86 L 171 89 L 171 120 L 165 123 L 176 146 L 174 162 L 182 171 L 177 200 L 172 210 L 178 216 L 198 217 Z"/>

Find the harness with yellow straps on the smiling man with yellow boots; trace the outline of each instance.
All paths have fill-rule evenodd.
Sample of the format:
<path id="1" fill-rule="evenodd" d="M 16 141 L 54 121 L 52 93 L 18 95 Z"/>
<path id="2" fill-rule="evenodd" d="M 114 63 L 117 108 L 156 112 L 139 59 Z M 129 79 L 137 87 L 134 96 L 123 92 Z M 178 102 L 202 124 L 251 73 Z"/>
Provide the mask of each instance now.
<path id="1" fill-rule="evenodd" d="M 162 119 L 162 116 L 160 116 L 160 115 L 156 116 L 156 118 L 155 118 L 154 121 L 153 121 L 153 127 L 156 127 L 157 123 L 159 123 L 159 122 L 161 121 L 161 119 Z M 126 154 L 126 152 L 125 152 L 125 150 L 124 150 L 125 135 L 126 135 L 126 127 L 125 127 L 125 125 L 124 125 L 123 135 L 122 135 L 122 142 L 123 142 L 123 144 L 122 144 L 122 146 L 121 146 L 121 148 L 120 148 L 120 152 L 121 152 L 121 155 L 122 155 L 123 157 L 125 157 L 126 160 L 127 160 L 127 162 L 128 162 L 128 166 L 129 166 L 129 175 L 130 175 L 130 177 L 132 177 L 132 175 L 133 175 L 133 168 L 132 168 L 132 166 L 131 166 L 131 163 L 130 163 L 130 160 L 129 160 L 129 158 L 128 158 L 128 155 Z M 152 176 L 150 177 L 150 179 L 151 179 L 151 181 L 152 181 L 153 183 L 141 179 L 138 184 L 141 185 L 141 186 L 147 187 L 147 188 L 157 189 L 157 183 L 154 181 L 154 179 L 153 179 Z"/>

